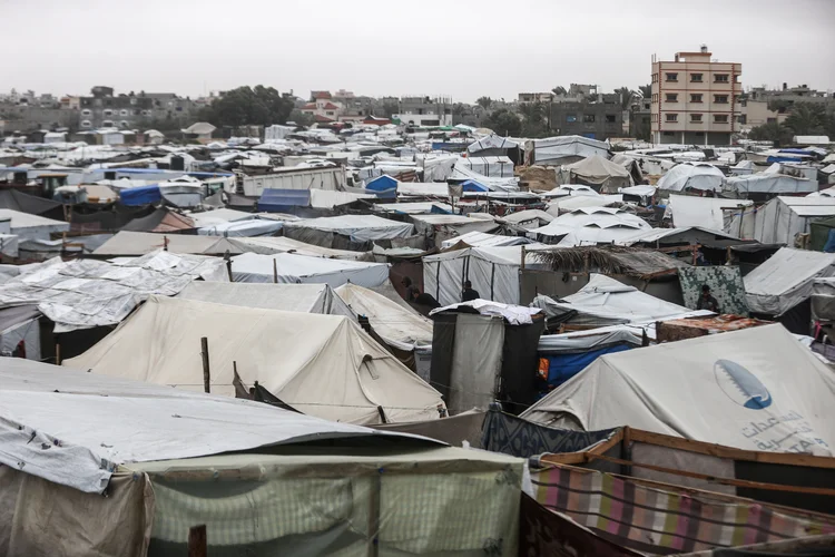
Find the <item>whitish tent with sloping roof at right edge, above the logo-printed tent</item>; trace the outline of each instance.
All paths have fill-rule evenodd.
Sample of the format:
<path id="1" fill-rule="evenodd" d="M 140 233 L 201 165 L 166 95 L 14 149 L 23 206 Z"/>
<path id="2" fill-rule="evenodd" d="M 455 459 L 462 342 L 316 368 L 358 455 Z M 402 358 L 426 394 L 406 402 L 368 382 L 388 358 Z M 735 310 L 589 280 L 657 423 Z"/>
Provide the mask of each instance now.
<path id="1" fill-rule="evenodd" d="M 779 316 L 812 295 L 815 278 L 835 275 L 835 254 L 783 247 L 743 277 L 748 307 Z"/>

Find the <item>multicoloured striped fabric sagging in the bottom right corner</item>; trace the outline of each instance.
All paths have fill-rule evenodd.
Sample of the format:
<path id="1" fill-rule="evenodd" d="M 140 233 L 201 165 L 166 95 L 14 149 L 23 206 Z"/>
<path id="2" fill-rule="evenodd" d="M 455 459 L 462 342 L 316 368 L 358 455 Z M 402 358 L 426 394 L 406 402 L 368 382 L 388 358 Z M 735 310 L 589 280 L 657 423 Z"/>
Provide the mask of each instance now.
<path id="1" fill-rule="evenodd" d="M 766 504 L 652 489 L 602 472 L 558 466 L 532 470 L 531 479 L 537 501 L 544 507 L 645 553 L 669 555 L 835 534 L 835 519 L 822 522 Z"/>

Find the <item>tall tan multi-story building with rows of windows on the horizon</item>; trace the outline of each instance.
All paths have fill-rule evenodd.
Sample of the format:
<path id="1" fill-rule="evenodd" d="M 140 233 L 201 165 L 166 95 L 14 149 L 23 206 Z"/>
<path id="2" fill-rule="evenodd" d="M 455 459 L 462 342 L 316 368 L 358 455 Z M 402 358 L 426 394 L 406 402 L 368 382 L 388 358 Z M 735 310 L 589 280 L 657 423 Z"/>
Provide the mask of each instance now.
<path id="1" fill-rule="evenodd" d="M 672 61 L 652 58 L 652 141 L 730 145 L 739 131 L 743 66 L 717 62 L 707 47 L 678 52 Z"/>

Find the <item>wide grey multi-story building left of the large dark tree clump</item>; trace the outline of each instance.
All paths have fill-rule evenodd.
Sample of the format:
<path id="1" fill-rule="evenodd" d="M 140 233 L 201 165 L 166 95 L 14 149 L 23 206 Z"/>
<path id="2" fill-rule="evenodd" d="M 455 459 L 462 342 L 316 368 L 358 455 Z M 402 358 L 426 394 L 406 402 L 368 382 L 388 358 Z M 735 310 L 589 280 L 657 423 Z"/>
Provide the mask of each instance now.
<path id="1" fill-rule="evenodd" d="M 155 120 L 176 120 L 186 127 L 191 119 L 194 102 L 174 92 L 145 92 L 114 95 L 112 87 L 94 87 L 90 97 L 81 97 L 79 128 L 132 129 Z"/>

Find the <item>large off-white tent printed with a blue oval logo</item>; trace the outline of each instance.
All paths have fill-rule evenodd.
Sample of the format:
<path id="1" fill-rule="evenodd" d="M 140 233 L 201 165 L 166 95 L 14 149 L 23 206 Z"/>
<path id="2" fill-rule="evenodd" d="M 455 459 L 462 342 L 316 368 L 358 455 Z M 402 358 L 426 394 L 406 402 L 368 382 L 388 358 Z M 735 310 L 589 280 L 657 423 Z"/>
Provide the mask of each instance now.
<path id="1" fill-rule="evenodd" d="M 832 370 L 774 324 L 603 355 L 522 418 L 831 456 L 833 404 Z"/>

